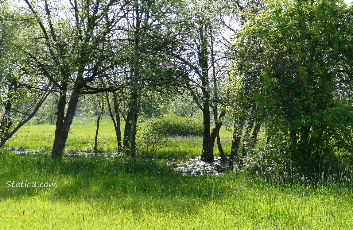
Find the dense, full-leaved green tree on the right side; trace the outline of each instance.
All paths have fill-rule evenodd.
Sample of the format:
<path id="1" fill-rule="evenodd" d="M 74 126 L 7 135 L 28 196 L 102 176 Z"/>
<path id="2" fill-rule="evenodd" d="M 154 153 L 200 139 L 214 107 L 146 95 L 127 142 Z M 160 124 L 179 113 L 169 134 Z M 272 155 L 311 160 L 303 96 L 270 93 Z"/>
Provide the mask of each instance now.
<path id="1" fill-rule="evenodd" d="M 300 167 L 352 151 L 352 8 L 268 1 L 237 36 L 237 74 L 252 78 L 268 137 Z"/>

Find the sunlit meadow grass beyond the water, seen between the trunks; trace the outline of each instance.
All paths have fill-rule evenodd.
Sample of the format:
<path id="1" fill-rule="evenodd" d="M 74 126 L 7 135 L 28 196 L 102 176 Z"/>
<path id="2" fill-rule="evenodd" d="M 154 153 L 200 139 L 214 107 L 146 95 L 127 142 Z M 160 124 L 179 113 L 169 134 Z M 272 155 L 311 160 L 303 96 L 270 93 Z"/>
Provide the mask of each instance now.
<path id="1" fill-rule="evenodd" d="M 121 124 L 121 133 L 124 133 L 124 125 Z M 96 123 L 91 119 L 83 117 L 74 117 L 70 133 L 67 138 L 65 150 L 89 151 L 93 150 Z M 6 142 L 10 149 L 23 150 L 43 150 L 49 152 L 53 145 L 55 125 L 47 124 L 28 124 L 19 129 L 19 131 Z M 118 146 L 116 144 L 116 135 L 112 121 L 105 117 L 101 122 L 98 133 L 98 149 L 111 152 Z M 230 152 L 232 133 L 224 127 L 220 130 L 220 138 L 225 152 Z M 201 155 L 202 137 L 170 137 L 166 146 L 159 149 L 156 153 L 157 158 L 194 158 Z M 214 145 L 215 155 L 219 155 L 217 144 Z"/>

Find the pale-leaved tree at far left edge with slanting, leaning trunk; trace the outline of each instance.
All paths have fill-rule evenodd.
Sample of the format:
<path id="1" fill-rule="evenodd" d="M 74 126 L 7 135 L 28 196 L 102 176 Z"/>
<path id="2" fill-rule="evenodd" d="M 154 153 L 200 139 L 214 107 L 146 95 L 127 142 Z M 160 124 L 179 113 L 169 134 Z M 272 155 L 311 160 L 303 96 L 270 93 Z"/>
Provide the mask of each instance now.
<path id="1" fill-rule="evenodd" d="M 35 116 L 53 89 L 53 81 L 26 65 L 25 53 L 36 50 L 28 43 L 32 27 L 29 17 L 0 4 L 0 147 Z"/>

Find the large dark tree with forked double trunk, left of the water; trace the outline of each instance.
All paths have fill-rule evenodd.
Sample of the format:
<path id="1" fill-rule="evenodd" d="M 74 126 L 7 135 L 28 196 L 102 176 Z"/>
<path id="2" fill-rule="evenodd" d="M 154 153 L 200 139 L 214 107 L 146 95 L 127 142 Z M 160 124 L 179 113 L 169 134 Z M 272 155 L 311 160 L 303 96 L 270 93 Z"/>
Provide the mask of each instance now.
<path id="1" fill-rule="evenodd" d="M 57 83 L 60 94 L 52 151 L 52 157 L 60 159 L 79 97 L 109 90 L 97 89 L 90 83 L 104 76 L 106 41 L 123 27 L 121 21 L 126 15 L 123 9 L 127 2 L 69 0 L 70 5 L 48 0 L 25 2 L 40 27 L 32 39 L 42 41 L 48 50 L 36 57 L 32 53 L 28 55 L 38 72 Z"/>

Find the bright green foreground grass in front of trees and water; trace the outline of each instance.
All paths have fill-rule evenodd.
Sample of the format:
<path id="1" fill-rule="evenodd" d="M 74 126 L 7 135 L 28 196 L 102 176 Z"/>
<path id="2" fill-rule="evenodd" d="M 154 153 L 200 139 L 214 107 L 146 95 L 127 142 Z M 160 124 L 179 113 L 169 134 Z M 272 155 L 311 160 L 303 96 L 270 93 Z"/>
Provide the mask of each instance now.
<path id="1" fill-rule="evenodd" d="M 0 153 L 0 229 L 352 229 L 353 170 L 183 176 L 160 161 Z M 6 188 L 6 181 L 55 182 Z"/>

